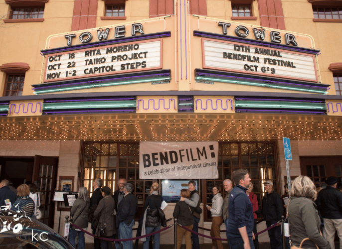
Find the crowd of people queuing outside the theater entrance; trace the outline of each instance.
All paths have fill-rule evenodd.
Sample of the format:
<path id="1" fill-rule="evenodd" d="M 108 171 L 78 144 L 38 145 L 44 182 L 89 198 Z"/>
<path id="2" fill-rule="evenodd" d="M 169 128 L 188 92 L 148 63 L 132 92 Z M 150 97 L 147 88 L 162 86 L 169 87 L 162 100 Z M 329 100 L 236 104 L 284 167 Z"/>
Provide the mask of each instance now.
<path id="1" fill-rule="evenodd" d="M 233 180 L 233 181 L 232 181 Z M 210 236 L 220 239 L 221 225 L 226 227 L 226 237 L 230 249 L 258 249 L 257 213 L 260 213 L 258 198 L 252 192 L 253 184 L 248 171 L 239 169 L 232 173 L 232 180 L 225 179 L 222 197 L 220 185 L 212 187 L 212 205 L 206 205 L 211 214 L 212 223 Z M 233 187 L 234 182 L 234 187 Z M 335 232 L 340 238 L 342 249 L 342 191 L 337 190 L 339 180 L 328 177 L 325 189 L 316 189 L 313 181 L 307 176 L 297 177 L 291 189 L 284 186 L 284 195 L 280 196 L 273 189 L 272 181 L 265 181 L 265 195 L 262 199 L 262 215 L 266 220 L 271 249 L 283 248 L 281 231 L 282 216 L 287 217 L 290 238 L 286 247 L 292 246 L 304 249 L 335 249 Z M 25 212 L 27 217 L 36 217 L 40 206 L 37 186 L 21 184 L 16 189 L 10 181 L 0 182 L 0 205 L 12 211 Z M 126 179 L 119 179 L 118 190 L 111 196 L 111 189 L 103 186 L 103 180 L 95 179 L 93 194 L 89 198 L 88 189 L 80 187 L 78 198 L 71 212 L 70 222 L 74 224 L 69 231 L 69 242 L 78 249 L 84 249 L 84 232 L 91 223 L 93 235 L 110 239 L 133 238 L 132 228 L 138 211 L 138 199 L 132 194 L 134 186 Z M 150 195 L 144 204 L 144 215 L 139 219 L 137 236 L 158 232 L 161 225 L 166 224 L 162 207 L 163 198 L 159 194 L 159 184 L 153 183 Z M 15 191 L 14 191 L 15 190 Z M 177 224 L 177 248 L 180 248 L 183 238 L 186 249 L 199 249 L 198 223 L 202 209 L 200 195 L 196 190 L 196 182 L 189 181 L 188 188 L 180 190 L 180 200 L 175 204 L 173 218 Z M 290 199 L 288 199 L 290 196 Z M 286 203 L 285 203 L 286 200 Z M 320 216 L 319 216 L 320 214 Z M 164 221 L 164 222 L 163 222 Z M 166 226 L 166 225 L 163 225 Z M 272 226 L 272 227 L 271 227 Z M 186 228 L 186 229 L 185 229 Z M 323 235 L 321 230 L 323 229 Z M 192 230 L 192 233 L 189 230 Z M 94 237 L 94 249 L 111 249 L 112 242 Z M 149 249 L 151 236 L 143 241 L 143 248 Z M 153 248 L 160 248 L 160 233 L 153 236 Z M 133 241 L 115 242 L 116 249 L 133 249 Z M 138 244 L 136 242 L 136 249 Z M 223 249 L 222 241 L 212 239 L 212 249 Z"/>

